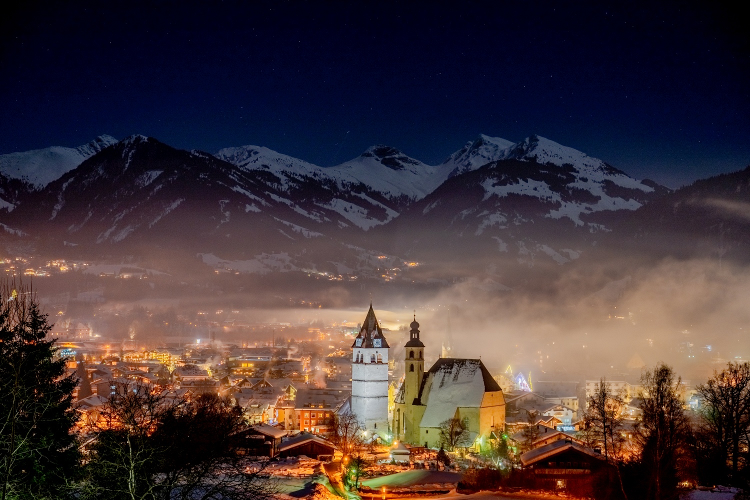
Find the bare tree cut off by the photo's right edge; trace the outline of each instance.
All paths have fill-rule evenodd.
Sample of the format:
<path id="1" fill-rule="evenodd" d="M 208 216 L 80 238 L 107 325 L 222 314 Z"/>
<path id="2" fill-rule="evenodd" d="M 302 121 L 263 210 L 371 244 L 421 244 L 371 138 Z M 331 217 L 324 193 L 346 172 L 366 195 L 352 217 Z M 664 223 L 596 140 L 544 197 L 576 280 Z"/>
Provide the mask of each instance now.
<path id="1" fill-rule="evenodd" d="M 750 439 L 750 364 L 728 363 L 721 372 L 697 387 L 703 399 L 703 425 L 722 459 L 731 464 L 730 478 L 737 481 L 747 464 L 742 448 Z"/>

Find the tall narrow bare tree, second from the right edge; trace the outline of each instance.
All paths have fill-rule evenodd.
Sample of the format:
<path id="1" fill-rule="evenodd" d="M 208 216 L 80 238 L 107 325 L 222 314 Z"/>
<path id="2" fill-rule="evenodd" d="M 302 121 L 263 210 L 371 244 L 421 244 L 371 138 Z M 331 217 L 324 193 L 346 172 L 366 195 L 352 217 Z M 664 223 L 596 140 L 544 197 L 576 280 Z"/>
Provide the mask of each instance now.
<path id="1" fill-rule="evenodd" d="M 649 498 L 676 498 L 677 466 L 688 420 L 682 410 L 682 380 L 659 363 L 640 377 L 643 419 L 637 427 L 641 460 L 649 473 Z"/>

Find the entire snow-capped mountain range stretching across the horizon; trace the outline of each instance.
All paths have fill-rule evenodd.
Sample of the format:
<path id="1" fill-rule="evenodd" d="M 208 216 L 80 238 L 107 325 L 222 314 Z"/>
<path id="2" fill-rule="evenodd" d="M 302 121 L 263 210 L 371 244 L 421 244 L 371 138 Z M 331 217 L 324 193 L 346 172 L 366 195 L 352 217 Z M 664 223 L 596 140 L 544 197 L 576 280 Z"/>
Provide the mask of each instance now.
<path id="1" fill-rule="evenodd" d="M 217 258 L 318 252 L 344 268 L 356 264 L 332 257 L 343 247 L 563 264 L 614 227 L 604 214 L 667 192 L 539 136 L 481 135 L 439 166 L 376 145 L 331 167 L 260 146 L 211 155 L 130 136 L 1 222 L 84 247 L 181 247 Z"/>

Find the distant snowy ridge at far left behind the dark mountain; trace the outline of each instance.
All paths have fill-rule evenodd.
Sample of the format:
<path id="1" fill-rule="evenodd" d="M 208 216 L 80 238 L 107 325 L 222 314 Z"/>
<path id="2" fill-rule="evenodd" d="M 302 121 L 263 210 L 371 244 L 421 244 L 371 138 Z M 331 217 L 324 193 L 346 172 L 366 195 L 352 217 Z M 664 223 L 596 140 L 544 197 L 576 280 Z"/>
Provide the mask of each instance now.
<path id="1" fill-rule="evenodd" d="M 0 173 L 7 178 L 26 181 L 39 189 L 115 142 L 117 139 L 113 136 L 102 135 L 77 148 L 52 146 L 33 151 L 0 154 Z"/>

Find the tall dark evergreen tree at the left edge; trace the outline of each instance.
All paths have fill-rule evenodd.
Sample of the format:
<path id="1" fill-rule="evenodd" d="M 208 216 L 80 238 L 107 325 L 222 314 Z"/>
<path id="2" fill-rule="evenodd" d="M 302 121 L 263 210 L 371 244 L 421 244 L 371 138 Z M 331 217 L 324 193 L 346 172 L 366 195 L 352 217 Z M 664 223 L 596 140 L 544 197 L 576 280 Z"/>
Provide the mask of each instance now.
<path id="1" fill-rule="evenodd" d="M 75 376 L 65 376 L 31 289 L 0 287 L 1 500 L 58 496 L 79 464 L 71 433 Z"/>

